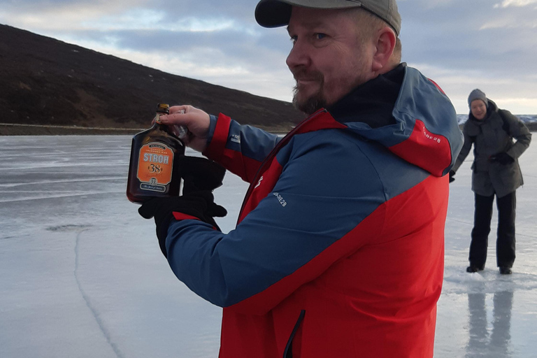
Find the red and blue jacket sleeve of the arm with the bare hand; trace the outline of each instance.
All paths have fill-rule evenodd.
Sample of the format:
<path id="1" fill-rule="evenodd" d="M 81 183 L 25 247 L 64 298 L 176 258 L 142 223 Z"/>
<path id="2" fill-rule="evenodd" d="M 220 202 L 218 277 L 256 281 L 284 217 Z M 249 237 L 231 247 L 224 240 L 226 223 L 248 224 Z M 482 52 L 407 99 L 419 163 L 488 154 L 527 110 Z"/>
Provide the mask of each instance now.
<path id="1" fill-rule="evenodd" d="M 262 129 L 238 124 L 227 115 L 210 116 L 209 145 L 203 152 L 231 173 L 251 182 L 264 158 L 280 137 Z"/>

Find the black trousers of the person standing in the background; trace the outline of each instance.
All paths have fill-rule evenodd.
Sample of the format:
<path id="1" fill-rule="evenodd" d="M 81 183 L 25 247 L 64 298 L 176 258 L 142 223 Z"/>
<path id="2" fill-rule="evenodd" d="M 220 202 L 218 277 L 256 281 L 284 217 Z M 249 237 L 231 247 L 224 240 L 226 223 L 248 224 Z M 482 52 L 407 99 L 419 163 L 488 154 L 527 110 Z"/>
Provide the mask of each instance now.
<path id="1" fill-rule="evenodd" d="M 470 243 L 470 264 L 480 268 L 487 261 L 490 220 L 494 195 L 475 194 L 475 214 L 473 218 L 472 241 Z M 496 198 L 498 208 L 498 238 L 496 240 L 496 264 L 499 267 L 513 267 L 515 262 L 515 192 Z"/>

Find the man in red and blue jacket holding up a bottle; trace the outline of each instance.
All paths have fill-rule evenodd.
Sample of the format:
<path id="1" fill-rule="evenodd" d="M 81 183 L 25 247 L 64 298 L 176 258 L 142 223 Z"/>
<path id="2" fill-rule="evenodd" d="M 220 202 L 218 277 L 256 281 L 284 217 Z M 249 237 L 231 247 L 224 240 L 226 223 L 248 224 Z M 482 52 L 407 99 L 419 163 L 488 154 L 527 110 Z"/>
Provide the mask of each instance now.
<path id="1" fill-rule="evenodd" d="M 210 188 L 141 213 L 176 276 L 224 308 L 221 358 L 432 357 L 445 174 L 462 144 L 452 104 L 399 64 L 394 0 L 262 0 L 255 15 L 288 25 L 309 117 L 278 138 L 172 107 L 162 122 L 250 188 L 229 234 Z"/>

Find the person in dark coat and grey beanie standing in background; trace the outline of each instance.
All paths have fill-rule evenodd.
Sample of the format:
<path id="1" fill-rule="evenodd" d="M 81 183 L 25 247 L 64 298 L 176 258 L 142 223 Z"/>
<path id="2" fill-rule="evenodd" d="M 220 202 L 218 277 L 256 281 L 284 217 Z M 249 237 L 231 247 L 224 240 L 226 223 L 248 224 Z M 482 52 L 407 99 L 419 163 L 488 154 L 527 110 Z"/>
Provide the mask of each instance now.
<path id="1" fill-rule="evenodd" d="M 531 141 L 524 123 L 508 110 L 501 110 L 481 90 L 468 96 L 470 114 L 464 124 L 464 145 L 450 171 L 450 181 L 470 152 L 473 144 L 472 190 L 475 213 L 467 272 L 482 271 L 487 260 L 487 245 L 496 196 L 498 236 L 496 264 L 500 273 L 509 275 L 515 262 L 515 191 L 524 182 L 518 157 Z M 513 143 L 513 138 L 517 141 Z"/>

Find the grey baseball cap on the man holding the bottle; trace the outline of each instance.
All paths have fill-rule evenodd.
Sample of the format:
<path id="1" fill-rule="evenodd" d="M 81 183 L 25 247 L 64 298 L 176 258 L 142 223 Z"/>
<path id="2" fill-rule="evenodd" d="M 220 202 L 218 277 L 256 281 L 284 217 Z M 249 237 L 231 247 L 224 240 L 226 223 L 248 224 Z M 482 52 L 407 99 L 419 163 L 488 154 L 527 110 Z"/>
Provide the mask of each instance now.
<path id="1" fill-rule="evenodd" d="M 303 8 L 364 8 L 391 26 L 397 36 L 401 31 L 401 15 L 395 0 L 261 0 L 255 8 L 255 20 L 262 27 L 289 24 L 292 6 Z"/>

